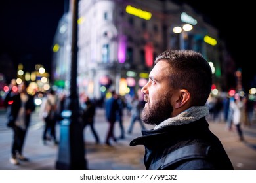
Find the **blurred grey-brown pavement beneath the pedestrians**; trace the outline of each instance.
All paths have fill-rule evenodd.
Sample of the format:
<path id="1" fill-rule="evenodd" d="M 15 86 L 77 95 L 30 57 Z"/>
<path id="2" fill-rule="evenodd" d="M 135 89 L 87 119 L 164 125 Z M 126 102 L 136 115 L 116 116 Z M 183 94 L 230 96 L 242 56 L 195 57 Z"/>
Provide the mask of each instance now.
<path id="1" fill-rule="evenodd" d="M 1 118 L 2 116 L 2 118 Z M 125 112 L 123 125 L 129 127 L 130 116 Z M 3 114 L 0 114 L 0 170 L 54 170 L 58 157 L 58 146 L 41 142 L 43 134 L 43 122 L 38 113 L 32 115 L 32 125 L 28 130 L 24 145 L 24 155 L 30 159 L 28 162 L 20 162 L 20 165 L 9 163 L 12 131 L 5 128 Z M 236 131 L 226 131 L 224 122 L 209 121 L 210 129 L 219 137 L 236 170 L 256 170 L 256 123 L 250 127 L 243 127 L 245 141 L 239 141 Z M 146 125 L 148 129 L 152 126 Z M 125 134 L 125 139 L 112 146 L 106 146 L 104 139 L 108 129 L 108 123 L 104 118 L 104 110 L 98 108 L 95 116 L 95 129 L 100 136 L 100 144 L 95 144 L 91 129 L 84 130 L 85 159 L 87 169 L 91 170 L 144 170 L 143 156 L 144 146 L 129 146 L 129 142 L 140 136 L 140 125 L 135 123 L 133 133 Z M 56 126 L 57 137 L 59 125 Z M 120 135 L 119 124 L 115 125 L 116 137 Z"/>

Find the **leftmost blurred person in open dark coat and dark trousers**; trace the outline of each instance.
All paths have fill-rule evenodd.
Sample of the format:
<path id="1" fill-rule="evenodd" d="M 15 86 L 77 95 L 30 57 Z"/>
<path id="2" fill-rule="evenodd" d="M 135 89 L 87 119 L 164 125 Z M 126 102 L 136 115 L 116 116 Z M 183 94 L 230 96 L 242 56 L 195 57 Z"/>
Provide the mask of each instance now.
<path id="1" fill-rule="evenodd" d="M 26 92 L 28 84 L 22 82 L 15 86 L 13 82 L 9 85 L 9 92 L 5 96 L 4 103 L 7 107 L 7 118 L 9 127 L 13 131 L 10 163 L 18 165 L 20 161 L 28 161 L 23 155 L 23 147 L 30 125 L 30 117 L 35 110 L 33 95 Z"/>

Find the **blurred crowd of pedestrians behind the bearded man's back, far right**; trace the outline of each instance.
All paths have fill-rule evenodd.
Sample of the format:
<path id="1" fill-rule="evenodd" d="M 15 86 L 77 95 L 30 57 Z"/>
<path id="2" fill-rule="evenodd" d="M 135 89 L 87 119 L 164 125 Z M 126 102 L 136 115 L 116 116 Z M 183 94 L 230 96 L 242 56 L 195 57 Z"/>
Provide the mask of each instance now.
<path id="1" fill-rule="evenodd" d="M 240 141 L 244 141 L 242 129 L 255 121 L 256 105 L 249 95 L 226 95 L 225 97 L 210 95 L 207 101 L 209 120 L 226 122 L 226 130 L 237 131 Z"/>

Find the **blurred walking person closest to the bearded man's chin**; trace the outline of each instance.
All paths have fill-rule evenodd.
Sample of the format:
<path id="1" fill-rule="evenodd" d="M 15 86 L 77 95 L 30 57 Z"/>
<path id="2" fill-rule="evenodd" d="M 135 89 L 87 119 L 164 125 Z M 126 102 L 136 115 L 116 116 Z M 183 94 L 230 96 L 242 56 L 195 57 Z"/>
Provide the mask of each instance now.
<path id="1" fill-rule="evenodd" d="M 138 99 L 138 96 L 135 95 L 133 97 L 133 100 L 131 101 L 131 122 L 130 122 L 127 133 L 131 134 L 133 132 L 133 126 L 136 121 L 139 122 L 141 129 L 146 129 L 142 120 L 140 119 L 140 110 L 141 110 L 140 101 Z"/>

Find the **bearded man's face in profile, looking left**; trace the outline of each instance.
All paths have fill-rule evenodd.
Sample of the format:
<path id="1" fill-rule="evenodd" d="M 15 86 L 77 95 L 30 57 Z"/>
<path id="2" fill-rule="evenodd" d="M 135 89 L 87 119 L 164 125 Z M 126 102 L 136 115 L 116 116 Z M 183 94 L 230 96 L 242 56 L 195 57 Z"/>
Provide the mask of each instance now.
<path id="1" fill-rule="evenodd" d="M 171 117 L 172 89 L 169 84 L 169 64 L 165 61 L 156 63 L 150 72 L 148 83 L 142 88 L 146 104 L 142 111 L 142 121 L 146 124 L 160 124 Z"/>

